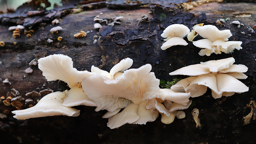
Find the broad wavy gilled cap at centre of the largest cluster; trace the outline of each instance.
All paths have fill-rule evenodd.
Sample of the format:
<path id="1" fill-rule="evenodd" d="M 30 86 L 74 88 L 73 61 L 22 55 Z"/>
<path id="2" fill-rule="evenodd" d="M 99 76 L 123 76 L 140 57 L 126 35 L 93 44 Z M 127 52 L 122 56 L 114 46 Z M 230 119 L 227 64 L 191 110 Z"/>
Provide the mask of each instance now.
<path id="1" fill-rule="evenodd" d="M 145 99 L 153 99 L 156 92 L 160 90 L 159 79 L 156 79 L 153 72 L 150 72 L 152 66 L 146 64 L 140 68 L 132 68 L 124 71 L 123 75 L 117 80 L 109 79 L 105 76 L 96 74 L 84 78 L 82 86 L 85 94 L 95 102 L 98 97 L 102 97 L 97 106 L 106 105 L 104 97 L 126 98 L 135 104 L 139 104 Z M 103 100 L 105 99 L 105 100 Z"/>

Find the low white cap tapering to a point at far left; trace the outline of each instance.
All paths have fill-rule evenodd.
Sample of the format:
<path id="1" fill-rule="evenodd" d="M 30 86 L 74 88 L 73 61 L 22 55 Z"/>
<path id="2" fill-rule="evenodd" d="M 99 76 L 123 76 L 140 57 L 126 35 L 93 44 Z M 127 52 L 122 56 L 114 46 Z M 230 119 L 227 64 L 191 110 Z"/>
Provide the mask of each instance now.
<path id="1" fill-rule="evenodd" d="M 40 101 L 31 108 L 12 111 L 12 113 L 16 114 L 16 116 L 13 117 L 19 120 L 26 120 L 28 118 L 44 116 L 79 116 L 79 110 L 62 105 L 64 98 L 65 92 L 52 92 L 40 99 Z"/>

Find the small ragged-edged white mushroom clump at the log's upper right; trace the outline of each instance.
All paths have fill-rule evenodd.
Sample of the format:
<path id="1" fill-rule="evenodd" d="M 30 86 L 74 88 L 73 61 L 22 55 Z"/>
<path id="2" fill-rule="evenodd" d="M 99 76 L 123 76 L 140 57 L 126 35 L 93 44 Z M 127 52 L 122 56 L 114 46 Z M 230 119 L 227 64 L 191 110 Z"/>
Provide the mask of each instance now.
<path id="1" fill-rule="evenodd" d="M 193 42 L 196 47 L 203 48 L 199 52 L 200 56 L 210 56 L 212 53 L 221 54 L 221 52 L 228 54 L 235 49 L 242 49 L 241 41 L 228 41 L 228 38 L 232 36 L 230 30 L 220 31 L 213 25 L 196 26 L 194 30 L 205 38 Z"/>

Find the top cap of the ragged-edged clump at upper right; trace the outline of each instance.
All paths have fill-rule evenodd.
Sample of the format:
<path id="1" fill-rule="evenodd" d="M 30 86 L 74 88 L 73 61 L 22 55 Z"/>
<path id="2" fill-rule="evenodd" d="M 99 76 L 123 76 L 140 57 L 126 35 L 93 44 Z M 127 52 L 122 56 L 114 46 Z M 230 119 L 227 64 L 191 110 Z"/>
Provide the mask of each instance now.
<path id="1" fill-rule="evenodd" d="M 216 26 L 205 25 L 205 26 L 196 26 L 194 30 L 203 38 L 208 38 L 212 42 L 218 39 L 223 39 L 227 41 L 229 37 L 232 36 L 230 30 L 218 30 Z"/>

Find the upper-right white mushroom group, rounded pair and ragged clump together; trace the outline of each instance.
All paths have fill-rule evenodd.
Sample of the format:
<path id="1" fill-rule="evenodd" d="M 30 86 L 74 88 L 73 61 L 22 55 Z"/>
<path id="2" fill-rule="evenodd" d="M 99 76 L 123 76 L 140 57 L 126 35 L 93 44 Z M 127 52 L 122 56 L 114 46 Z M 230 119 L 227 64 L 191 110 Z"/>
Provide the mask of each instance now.
<path id="1" fill-rule="evenodd" d="M 163 38 L 166 38 L 164 39 L 166 42 L 164 42 L 161 49 L 166 50 L 168 47 L 174 45 L 187 45 L 188 43 L 183 40 L 183 37 L 189 33 L 189 28 L 183 24 L 173 24 L 168 26 L 161 34 Z M 197 24 L 193 27 L 191 33 L 194 33 L 194 35 L 188 35 L 188 40 L 190 41 L 192 41 L 197 34 L 205 38 L 193 42 L 193 45 L 196 47 L 203 48 L 199 52 L 200 56 L 210 56 L 212 53 L 221 54 L 221 52 L 228 54 L 235 49 L 242 49 L 240 46 L 242 44 L 241 41 L 228 41 L 228 38 L 232 36 L 230 30 L 220 31 L 213 25 L 201 26 L 200 24 Z"/>

